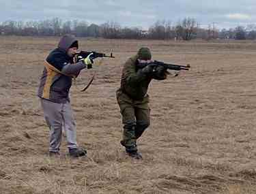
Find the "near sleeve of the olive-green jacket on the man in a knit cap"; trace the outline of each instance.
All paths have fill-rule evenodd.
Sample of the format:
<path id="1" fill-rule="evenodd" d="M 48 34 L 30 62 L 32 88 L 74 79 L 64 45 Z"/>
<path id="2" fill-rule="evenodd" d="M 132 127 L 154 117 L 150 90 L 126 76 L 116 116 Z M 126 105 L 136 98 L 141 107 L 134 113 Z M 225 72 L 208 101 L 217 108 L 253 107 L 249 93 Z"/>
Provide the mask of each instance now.
<path id="1" fill-rule="evenodd" d="M 124 64 L 123 74 L 128 84 L 137 84 L 147 78 L 141 69 L 136 71 L 136 67 L 132 59 L 128 59 Z"/>

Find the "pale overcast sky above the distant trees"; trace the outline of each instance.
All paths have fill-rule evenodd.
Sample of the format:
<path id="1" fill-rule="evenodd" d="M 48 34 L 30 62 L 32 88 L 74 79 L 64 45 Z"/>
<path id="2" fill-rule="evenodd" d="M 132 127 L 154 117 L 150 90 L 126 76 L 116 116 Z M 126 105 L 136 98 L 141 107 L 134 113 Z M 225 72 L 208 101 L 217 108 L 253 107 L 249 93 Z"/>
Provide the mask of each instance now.
<path id="1" fill-rule="evenodd" d="M 201 27 L 229 28 L 256 23 L 256 0 L 0 0 L 5 20 L 87 20 L 98 25 L 114 21 L 122 27 L 147 29 L 157 20 L 173 25 L 184 17 Z"/>

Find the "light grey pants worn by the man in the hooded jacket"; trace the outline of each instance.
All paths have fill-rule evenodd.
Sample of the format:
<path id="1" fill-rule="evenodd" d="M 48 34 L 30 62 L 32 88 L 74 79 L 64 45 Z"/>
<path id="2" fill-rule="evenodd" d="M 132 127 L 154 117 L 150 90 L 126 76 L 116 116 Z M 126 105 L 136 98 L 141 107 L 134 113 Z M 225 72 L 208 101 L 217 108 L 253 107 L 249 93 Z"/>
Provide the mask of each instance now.
<path id="1" fill-rule="evenodd" d="M 50 152 L 59 152 L 61 146 L 62 129 L 66 133 L 68 148 L 77 148 L 76 123 L 70 103 L 54 103 L 40 99 L 44 118 L 50 128 Z"/>

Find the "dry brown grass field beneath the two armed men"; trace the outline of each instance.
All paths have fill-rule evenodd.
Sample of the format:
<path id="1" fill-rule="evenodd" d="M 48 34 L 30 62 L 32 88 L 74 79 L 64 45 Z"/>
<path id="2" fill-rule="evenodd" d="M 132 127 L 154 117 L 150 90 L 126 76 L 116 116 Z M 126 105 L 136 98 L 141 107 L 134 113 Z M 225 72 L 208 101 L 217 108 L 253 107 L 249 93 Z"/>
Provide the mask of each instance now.
<path id="1" fill-rule="evenodd" d="M 48 157 L 48 128 L 36 91 L 59 38 L 0 36 L 0 193 L 256 193 L 256 43 L 79 39 L 116 56 L 81 73 L 71 99 L 88 157 Z M 150 85 L 152 125 L 142 161 L 119 144 L 115 91 L 122 64 L 141 46 L 154 59 L 192 66 Z M 96 73 L 89 89 L 80 89 Z"/>

